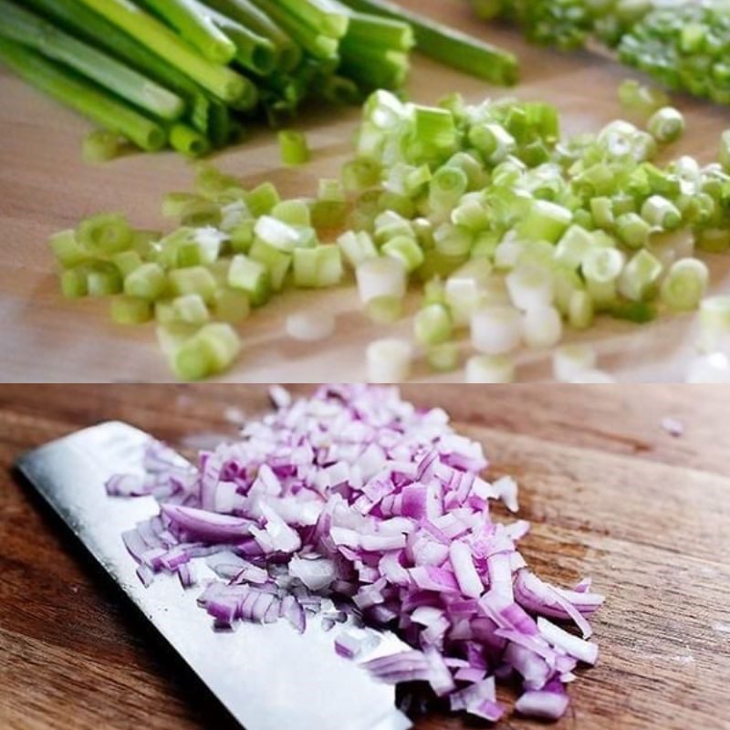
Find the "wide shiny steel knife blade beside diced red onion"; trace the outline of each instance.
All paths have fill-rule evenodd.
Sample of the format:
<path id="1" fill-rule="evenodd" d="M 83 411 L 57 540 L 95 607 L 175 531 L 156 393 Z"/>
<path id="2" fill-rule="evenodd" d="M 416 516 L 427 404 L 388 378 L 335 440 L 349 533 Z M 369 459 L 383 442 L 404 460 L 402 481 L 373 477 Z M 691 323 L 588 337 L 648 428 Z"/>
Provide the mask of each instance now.
<path id="1" fill-rule="evenodd" d="M 104 485 L 112 474 L 141 473 L 150 438 L 127 423 L 105 422 L 23 454 L 16 465 L 246 730 L 411 727 L 395 707 L 393 687 L 335 652 L 340 628 L 325 631 L 321 620 L 309 617 L 301 634 L 286 620 L 214 631 L 196 603 L 201 589 L 183 589 L 164 574 L 149 588 L 141 585 L 121 533 L 156 515 L 159 506 L 151 496 L 111 498 Z M 206 569 L 204 562 L 198 567 Z M 380 632 L 377 647 L 358 661 L 407 648 L 391 632 Z"/>

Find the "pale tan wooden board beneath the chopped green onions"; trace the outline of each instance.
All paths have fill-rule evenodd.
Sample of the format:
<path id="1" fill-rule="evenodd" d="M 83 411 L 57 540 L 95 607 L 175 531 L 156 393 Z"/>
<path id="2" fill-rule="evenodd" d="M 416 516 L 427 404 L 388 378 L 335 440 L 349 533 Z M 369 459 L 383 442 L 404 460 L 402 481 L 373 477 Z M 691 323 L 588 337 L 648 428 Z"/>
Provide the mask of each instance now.
<path id="1" fill-rule="evenodd" d="M 405 2 L 405 0 L 404 0 Z M 474 101 L 514 93 L 546 99 L 565 114 L 566 130 L 596 130 L 620 116 L 616 88 L 629 71 L 588 54 L 560 56 L 527 47 L 506 30 L 485 27 L 460 0 L 408 0 L 408 5 L 475 34 L 515 49 L 523 62 L 523 83 L 513 91 L 495 89 L 474 78 L 418 57 L 412 98 L 433 103 L 454 90 Z M 714 158 L 719 134 L 729 126 L 730 110 L 677 99 L 687 112 L 689 131 L 675 148 Z M 251 141 L 216 160 L 246 185 L 275 182 L 288 195 L 312 194 L 316 180 L 333 176 L 350 151 L 359 110 L 310 113 L 301 127 L 309 132 L 315 162 L 297 171 L 279 166 L 276 137 L 255 132 Z M 120 328 L 110 322 L 108 303 L 68 302 L 57 294 L 47 236 L 103 210 L 130 214 L 133 224 L 164 225 L 163 193 L 188 189 L 192 172 L 173 154 L 135 155 L 100 167 L 80 162 L 80 141 L 88 125 L 68 110 L 29 89 L 0 69 L 0 348 L 2 381 L 168 381 L 171 376 L 151 327 Z M 712 263 L 713 289 L 730 287 L 730 257 Z M 328 308 L 338 314 L 335 337 L 317 347 L 287 339 L 284 322 L 297 308 Z M 623 381 L 683 381 L 693 349 L 692 318 L 660 321 L 651 328 L 603 323 L 582 335 L 600 348 L 601 365 Z M 278 299 L 243 328 L 245 355 L 228 381 L 358 381 L 365 377 L 363 349 L 392 332 L 408 337 L 410 319 L 393 328 L 372 325 L 360 314 L 352 287 L 324 294 L 296 293 Z M 465 346 L 464 346 L 465 349 Z M 520 380 L 549 377 L 544 353 L 523 353 Z M 420 366 L 414 380 L 433 376 Z M 461 381 L 458 372 L 445 380 Z"/>

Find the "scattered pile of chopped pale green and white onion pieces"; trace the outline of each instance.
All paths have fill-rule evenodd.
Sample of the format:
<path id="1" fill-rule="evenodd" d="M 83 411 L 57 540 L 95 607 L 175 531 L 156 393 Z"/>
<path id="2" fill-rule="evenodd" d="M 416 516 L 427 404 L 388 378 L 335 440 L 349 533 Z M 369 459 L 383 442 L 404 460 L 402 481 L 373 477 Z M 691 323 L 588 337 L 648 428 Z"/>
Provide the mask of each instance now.
<path id="1" fill-rule="evenodd" d="M 165 198 L 163 213 L 181 222 L 172 233 L 133 231 L 112 214 L 51 245 L 64 293 L 121 295 L 116 321 L 156 320 L 183 379 L 235 360 L 232 326 L 249 308 L 287 287 L 336 286 L 349 269 L 383 324 L 421 283 L 413 337 L 433 370 L 458 366 L 470 332 L 480 355 L 468 377 L 505 381 L 518 349 L 553 348 L 566 328 L 698 307 L 708 270 L 695 250 L 730 248 L 730 138 L 719 163 L 652 162 L 682 129 L 679 112 L 662 108 L 648 130 L 617 120 L 561 141 L 545 103 L 467 106 L 454 95 L 425 107 L 380 90 L 356 157 L 316 198 L 283 201 L 270 183 L 246 191 L 202 167 L 195 193 Z M 296 134 L 281 141 L 286 155 L 306 150 Z M 314 339 L 332 326 L 302 317 L 287 329 Z M 410 346 L 386 339 L 369 350 L 372 377 L 395 372 L 382 361 L 395 349 L 398 377 L 407 373 Z"/>

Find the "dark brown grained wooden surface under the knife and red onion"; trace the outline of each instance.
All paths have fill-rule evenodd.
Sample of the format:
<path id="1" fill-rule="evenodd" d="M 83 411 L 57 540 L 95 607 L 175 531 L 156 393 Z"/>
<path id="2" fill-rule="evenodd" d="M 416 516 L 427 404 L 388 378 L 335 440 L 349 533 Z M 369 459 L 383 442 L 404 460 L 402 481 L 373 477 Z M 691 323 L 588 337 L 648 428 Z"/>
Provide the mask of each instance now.
<path id="1" fill-rule="evenodd" d="M 600 662 L 579 672 L 570 713 L 551 726 L 730 728 L 730 388 L 404 394 L 446 408 L 484 443 L 493 474 L 516 476 L 533 523 L 522 551 L 538 574 L 565 584 L 591 576 L 608 597 L 593 621 Z M 3 730 L 235 726 L 9 469 L 24 450 L 102 420 L 190 448 L 264 408 L 255 386 L 0 386 Z M 668 416 L 683 423 L 681 437 L 662 429 Z M 432 716 L 417 730 L 469 726 Z"/>

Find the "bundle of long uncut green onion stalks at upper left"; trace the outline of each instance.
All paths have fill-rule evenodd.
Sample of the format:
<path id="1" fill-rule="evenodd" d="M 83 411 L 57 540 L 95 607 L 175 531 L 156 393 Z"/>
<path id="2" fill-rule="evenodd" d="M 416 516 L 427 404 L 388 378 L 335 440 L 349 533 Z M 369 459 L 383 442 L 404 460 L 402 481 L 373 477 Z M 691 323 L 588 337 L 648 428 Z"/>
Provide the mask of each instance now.
<path id="1" fill-rule="evenodd" d="M 120 141 L 201 156 L 242 121 L 289 120 L 313 97 L 400 89 L 422 50 L 498 83 L 514 57 L 420 16 L 339 0 L 0 0 L 0 60 L 96 122 L 89 161 Z M 362 2 L 354 3 L 362 5 Z M 381 10 L 374 3 L 374 10 Z"/>

